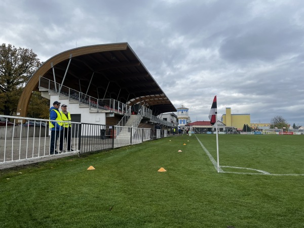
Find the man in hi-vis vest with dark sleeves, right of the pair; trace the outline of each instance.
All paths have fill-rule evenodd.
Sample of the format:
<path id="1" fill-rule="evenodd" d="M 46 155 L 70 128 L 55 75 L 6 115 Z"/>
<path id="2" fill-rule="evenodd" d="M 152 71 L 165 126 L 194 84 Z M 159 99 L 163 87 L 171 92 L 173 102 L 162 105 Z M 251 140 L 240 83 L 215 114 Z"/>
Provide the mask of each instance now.
<path id="1" fill-rule="evenodd" d="M 71 121 L 71 115 L 69 111 L 67 111 L 67 105 L 61 105 L 61 118 L 63 121 Z M 63 148 L 64 139 L 66 141 L 67 151 L 73 151 L 71 148 L 71 123 L 62 122 L 63 130 L 60 132 L 60 143 L 59 143 L 59 150 L 60 152 L 65 152 Z"/>

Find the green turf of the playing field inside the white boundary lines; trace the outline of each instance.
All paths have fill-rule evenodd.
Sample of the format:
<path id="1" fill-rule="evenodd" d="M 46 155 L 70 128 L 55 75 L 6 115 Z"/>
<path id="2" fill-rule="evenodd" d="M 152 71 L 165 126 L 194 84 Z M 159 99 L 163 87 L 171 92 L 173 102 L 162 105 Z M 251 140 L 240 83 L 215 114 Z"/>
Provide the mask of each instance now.
<path id="1" fill-rule="evenodd" d="M 216 137 L 197 136 L 216 160 Z M 304 174 L 303 135 L 219 135 L 218 144 L 221 166 L 272 174 Z M 223 168 L 223 171 L 250 172 L 233 168 Z"/>

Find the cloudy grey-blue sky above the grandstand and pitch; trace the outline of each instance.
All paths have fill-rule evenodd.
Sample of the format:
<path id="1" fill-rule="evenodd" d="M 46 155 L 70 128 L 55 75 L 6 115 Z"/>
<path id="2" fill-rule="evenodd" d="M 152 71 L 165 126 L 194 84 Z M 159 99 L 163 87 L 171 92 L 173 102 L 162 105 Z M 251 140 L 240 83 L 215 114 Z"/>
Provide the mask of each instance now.
<path id="1" fill-rule="evenodd" d="M 304 125 L 304 1 L 2 0 L 0 43 L 41 61 L 75 47 L 128 42 L 192 122 L 250 113 Z"/>

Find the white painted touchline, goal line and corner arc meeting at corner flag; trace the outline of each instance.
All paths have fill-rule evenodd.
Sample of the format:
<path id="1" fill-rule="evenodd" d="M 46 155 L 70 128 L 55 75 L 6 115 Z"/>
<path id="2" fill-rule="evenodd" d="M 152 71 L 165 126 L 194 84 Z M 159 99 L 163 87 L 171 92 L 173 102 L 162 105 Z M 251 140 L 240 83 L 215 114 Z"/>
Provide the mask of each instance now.
<path id="1" fill-rule="evenodd" d="M 206 155 L 209 157 L 210 161 L 214 165 L 215 170 L 217 171 L 217 162 L 214 160 L 212 155 L 209 153 L 208 149 L 203 145 L 203 143 L 198 139 L 198 137 L 195 135 L 199 143 L 201 144 L 202 148 L 205 150 Z M 239 172 L 225 172 L 221 169 L 221 167 L 226 168 L 235 168 L 235 169 L 248 169 L 248 170 L 254 170 L 258 173 L 239 173 Z M 220 173 L 234 173 L 234 174 L 253 174 L 253 175 L 270 175 L 270 176 L 304 176 L 304 174 L 275 174 L 275 173 L 269 173 L 267 171 L 258 170 L 258 169 L 252 169 L 252 168 L 242 168 L 242 167 L 235 167 L 235 166 L 220 166 L 219 167 Z"/>

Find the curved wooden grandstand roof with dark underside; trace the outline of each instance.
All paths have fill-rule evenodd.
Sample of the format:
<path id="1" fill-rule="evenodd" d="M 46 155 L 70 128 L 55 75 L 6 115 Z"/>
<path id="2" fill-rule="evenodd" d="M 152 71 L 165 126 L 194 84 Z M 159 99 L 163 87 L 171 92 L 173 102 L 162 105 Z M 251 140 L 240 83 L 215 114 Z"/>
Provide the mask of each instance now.
<path id="1" fill-rule="evenodd" d="M 39 78 L 54 81 L 52 66 L 56 83 L 83 93 L 89 87 L 89 96 L 144 104 L 154 115 L 176 111 L 129 44 L 117 43 L 74 48 L 44 62 L 23 90 L 17 109 L 20 116 L 26 115 L 31 92 L 39 90 Z"/>

